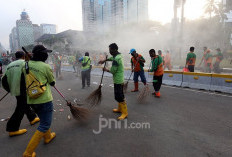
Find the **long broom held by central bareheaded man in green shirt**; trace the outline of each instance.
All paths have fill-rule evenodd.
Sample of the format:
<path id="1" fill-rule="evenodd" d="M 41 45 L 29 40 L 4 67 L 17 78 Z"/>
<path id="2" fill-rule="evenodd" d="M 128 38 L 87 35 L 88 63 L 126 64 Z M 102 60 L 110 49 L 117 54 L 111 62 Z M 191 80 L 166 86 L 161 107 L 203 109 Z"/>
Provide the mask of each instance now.
<path id="1" fill-rule="evenodd" d="M 107 60 L 107 55 L 106 55 L 106 60 Z M 104 64 L 104 68 L 105 67 L 106 67 L 106 62 Z M 99 87 L 85 99 L 85 101 L 91 104 L 92 106 L 99 105 L 102 100 L 101 88 L 102 88 L 102 80 L 103 80 L 104 72 L 105 71 L 103 70 Z"/>

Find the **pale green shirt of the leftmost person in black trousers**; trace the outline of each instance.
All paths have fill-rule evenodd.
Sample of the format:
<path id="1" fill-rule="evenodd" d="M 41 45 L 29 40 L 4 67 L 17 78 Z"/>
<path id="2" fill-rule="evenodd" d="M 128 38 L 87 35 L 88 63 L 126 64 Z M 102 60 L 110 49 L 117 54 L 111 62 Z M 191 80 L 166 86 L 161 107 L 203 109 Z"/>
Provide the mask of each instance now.
<path id="1" fill-rule="evenodd" d="M 7 76 L 7 82 L 9 84 L 10 93 L 12 96 L 20 95 L 20 82 L 21 82 L 22 68 L 25 65 L 24 63 L 25 63 L 24 60 L 19 59 L 10 63 L 6 68 L 4 75 Z"/>

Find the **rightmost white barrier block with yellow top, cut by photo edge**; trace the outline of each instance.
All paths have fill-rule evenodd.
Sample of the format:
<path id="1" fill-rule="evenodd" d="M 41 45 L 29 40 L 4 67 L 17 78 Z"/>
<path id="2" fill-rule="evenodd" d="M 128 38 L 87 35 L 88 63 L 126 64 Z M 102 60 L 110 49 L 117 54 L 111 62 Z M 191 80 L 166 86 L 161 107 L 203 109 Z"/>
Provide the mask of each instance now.
<path id="1" fill-rule="evenodd" d="M 232 75 L 212 74 L 210 90 L 232 93 Z"/>

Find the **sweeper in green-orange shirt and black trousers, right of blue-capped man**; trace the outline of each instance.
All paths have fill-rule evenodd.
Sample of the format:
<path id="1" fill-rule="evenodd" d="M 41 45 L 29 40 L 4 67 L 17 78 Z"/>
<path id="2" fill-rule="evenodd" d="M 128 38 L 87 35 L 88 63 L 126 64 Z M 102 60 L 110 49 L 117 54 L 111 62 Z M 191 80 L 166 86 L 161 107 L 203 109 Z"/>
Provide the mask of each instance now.
<path id="1" fill-rule="evenodd" d="M 152 93 L 156 97 L 160 97 L 160 88 L 162 85 L 162 79 L 163 79 L 163 60 L 162 57 L 159 55 L 156 55 L 155 50 L 151 49 L 149 51 L 150 57 L 151 57 L 151 69 L 149 72 L 154 72 L 153 76 L 153 87 L 155 92 Z"/>

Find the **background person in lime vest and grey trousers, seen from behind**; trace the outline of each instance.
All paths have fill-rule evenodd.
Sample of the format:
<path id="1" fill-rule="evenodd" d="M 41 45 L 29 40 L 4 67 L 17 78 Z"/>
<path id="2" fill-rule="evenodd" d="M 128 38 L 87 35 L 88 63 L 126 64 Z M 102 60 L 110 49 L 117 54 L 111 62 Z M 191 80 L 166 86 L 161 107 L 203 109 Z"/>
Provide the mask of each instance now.
<path id="1" fill-rule="evenodd" d="M 81 65 L 81 77 L 82 77 L 82 89 L 85 88 L 85 80 L 87 81 L 87 86 L 90 86 L 90 72 L 91 72 L 91 60 L 89 57 L 89 52 L 85 52 L 85 56 L 79 58 Z"/>

